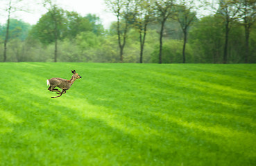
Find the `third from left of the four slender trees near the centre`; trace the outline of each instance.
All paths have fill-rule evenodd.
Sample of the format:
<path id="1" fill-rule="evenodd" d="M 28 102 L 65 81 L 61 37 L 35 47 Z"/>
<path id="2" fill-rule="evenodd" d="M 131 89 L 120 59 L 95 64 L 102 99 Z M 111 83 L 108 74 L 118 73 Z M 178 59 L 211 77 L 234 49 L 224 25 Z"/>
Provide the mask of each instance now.
<path id="1" fill-rule="evenodd" d="M 162 37 L 164 33 L 164 24 L 171 15 L 173 15 L 174 0 L 164 1 L 158 0 L 155 1 L 155 10 L 157 12 L 157 17 L 161 22 L 160 30 L 160 50 L 159 50 L 159 63 L 162 64 Z"/>

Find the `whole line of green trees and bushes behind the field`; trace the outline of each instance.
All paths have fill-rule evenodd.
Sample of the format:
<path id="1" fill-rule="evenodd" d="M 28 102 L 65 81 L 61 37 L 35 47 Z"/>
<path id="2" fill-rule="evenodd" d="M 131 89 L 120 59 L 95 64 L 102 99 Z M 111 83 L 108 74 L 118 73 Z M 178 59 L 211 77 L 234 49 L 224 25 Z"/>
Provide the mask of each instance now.
<path id="1" fill-rule="evenodd" d="M 50 0 L 31 26 L 11 19 L 15 4 L 9 3 L 0 61 L 255 63 L 256 1 L 206 2 L 105 0 L 117 18 L 109 29 L 96 15 L 81 16 Z M 198 15 L 205 8 L 212 14 Z"/>

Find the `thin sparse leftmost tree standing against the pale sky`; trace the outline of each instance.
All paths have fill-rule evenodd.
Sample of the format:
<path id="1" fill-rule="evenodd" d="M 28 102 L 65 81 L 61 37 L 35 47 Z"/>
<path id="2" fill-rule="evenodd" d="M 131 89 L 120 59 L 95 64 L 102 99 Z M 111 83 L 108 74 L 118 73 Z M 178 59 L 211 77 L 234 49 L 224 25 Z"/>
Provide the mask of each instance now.
<path id="1" fill-rule="evenodd" d="M 7 24 L 6 24 L 6 37 L 4 39 L 4 48 L 3 48 L 3 62 L 6 62 L 6 50 L 7 50 L 7 43 L 8 43 L 8 38 L 9 38 L 9 28 L 10 28 L 10 18 L 12 13 L 20 11 L 24 9 L 24 6 L 22 6 L 21 2 L 23 0 L 9 0 L 5 1 L 7 2 L 5 11 L 8 13 L 7 14 Z"/>

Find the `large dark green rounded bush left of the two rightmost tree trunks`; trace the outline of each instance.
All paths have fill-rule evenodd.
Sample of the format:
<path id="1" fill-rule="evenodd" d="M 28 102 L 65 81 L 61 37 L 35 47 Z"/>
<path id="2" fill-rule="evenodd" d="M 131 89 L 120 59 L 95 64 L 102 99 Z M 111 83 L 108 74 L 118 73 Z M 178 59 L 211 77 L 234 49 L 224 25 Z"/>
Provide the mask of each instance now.
<path id="1" fill-rule="evenodd" d="M 189 42 L 194 46 L 200 63 L 220 63 L 223 57 L 224 33 L 218 17 L 203 17 L 192 28 Z"/>

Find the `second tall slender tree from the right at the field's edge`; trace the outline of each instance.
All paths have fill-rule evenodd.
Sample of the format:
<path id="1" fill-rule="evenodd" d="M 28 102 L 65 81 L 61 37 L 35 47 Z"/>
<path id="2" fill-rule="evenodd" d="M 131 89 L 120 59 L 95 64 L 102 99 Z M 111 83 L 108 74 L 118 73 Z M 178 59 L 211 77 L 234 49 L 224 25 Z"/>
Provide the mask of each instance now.
<path id="1" fill-rule="evenodd" d="M 240 10 L 239 0 L 220 0 L 217 14 L 225 24 L 225 44 L 223 53 L 223 64 L 228 63 L 228 39 L 232 23 L 236 21 Z"/>

